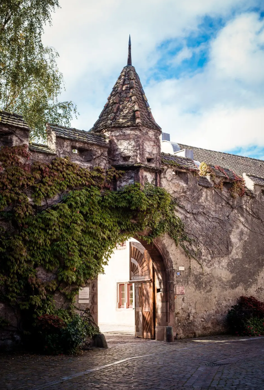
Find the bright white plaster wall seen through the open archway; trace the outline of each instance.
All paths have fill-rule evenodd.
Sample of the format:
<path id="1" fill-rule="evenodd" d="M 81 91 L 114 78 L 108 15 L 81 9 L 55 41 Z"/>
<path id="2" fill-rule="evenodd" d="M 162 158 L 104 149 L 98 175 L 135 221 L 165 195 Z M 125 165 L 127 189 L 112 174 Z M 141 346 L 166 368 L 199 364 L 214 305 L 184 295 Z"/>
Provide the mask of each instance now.
<path id="1" fill-rule="evenodd" d="M 134 310 L 117 308 L 117 283 L 129 281 L 129 241 L 112 254 L 104 274 L 98 276 L 98 323 L 134 326 Z"/>

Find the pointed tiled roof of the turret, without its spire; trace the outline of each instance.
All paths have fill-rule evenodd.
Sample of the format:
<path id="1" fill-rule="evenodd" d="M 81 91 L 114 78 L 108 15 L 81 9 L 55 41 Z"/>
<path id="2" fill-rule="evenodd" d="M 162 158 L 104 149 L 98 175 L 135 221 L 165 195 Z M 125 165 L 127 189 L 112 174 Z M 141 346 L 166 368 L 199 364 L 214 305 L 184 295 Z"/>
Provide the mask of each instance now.
<path id="1" fill-rule="evenodd" d="M 118 77 L 99 119 L 91 130 L 141 125 L 160 130 L 151 114 L 135 68 L 127 65 Z"/>

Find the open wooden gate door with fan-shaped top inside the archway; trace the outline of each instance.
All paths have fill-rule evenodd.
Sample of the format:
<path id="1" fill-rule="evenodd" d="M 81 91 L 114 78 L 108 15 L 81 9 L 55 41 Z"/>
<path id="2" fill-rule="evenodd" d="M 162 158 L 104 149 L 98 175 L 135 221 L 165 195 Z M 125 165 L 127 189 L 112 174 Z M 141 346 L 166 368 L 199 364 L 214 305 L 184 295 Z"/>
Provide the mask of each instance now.
<path id="1" fill-rule="evenodd" d="M 152 260 L 145 248 L 130 242 L 130 283 L 135 283 L 135 335 L 154 338 Z"/>

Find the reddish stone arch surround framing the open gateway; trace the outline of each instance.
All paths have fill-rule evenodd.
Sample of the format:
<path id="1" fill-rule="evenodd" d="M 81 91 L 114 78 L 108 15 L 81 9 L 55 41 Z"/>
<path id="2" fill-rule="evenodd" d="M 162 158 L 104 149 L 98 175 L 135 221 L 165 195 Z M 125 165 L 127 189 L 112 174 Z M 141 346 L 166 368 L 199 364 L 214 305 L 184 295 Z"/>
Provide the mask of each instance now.
<path id="1" fill-rule="evenodd" d="M 143 274 L 143 272 L 139 271 L 138 262 L 132 257 L 135 260 L 133 263 L 134 276 L 137 276 L 138 279 L 139 277 L 141 278 L 144 276 L 146 280 L 154 277 L 154 334 L 156 340 L 164 340 L 165 327 L 174 327 L 175 289 L 172 261 L 165 245 L 159 238 L 155 239 L 151 244 L 148 244 L 140 235 L 135 237 L 135 239 L 140 242 L 151 258 L 154 275 L 151 275 L 150 277 L 147 272 L 145 272 L 144 275 L 140 275 L 140 273 Z M 93 280 L 90 284 L 90 313 L 97 323 L 97 280 Z"/>

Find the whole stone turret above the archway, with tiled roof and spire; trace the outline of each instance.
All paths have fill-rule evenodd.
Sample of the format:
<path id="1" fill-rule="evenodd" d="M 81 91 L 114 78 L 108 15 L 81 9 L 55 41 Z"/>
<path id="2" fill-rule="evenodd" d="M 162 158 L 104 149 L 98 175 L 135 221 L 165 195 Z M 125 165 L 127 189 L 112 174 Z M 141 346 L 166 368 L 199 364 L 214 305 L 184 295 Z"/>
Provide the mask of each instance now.
<path id="1" fill-rule="evenodd" d="M 130 36 L 127 65 L 90 131 L 109 138 L 111 165 L 126 171 L 122 185 L 134 181 L 160 185 L 161 128 L 151 114 L 139 77 L 132 66 Z"/>

